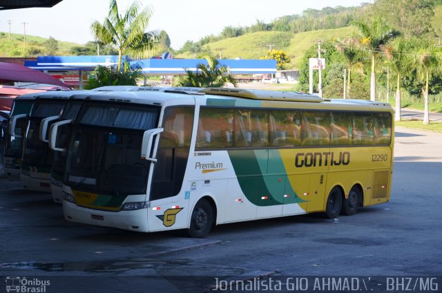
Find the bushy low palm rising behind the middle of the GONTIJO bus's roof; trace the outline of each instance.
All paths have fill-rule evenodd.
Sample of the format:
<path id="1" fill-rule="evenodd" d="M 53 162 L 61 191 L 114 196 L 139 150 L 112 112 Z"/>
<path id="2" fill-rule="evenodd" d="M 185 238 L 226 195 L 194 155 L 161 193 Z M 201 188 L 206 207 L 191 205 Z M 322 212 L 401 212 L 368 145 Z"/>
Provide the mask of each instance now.
<path id="1" fill-rule="evenodd" d="M 196 72 L 186 70 L 187 75 L 177 80 L 177 86 L 192 86 L 197 88 L 220 88 L 227 82 L 236 87 L 236 79 L 230 75 L 229 68 L 220 66 L 215 57 L 207 55 L 207 64 L 198 64 Z"/>

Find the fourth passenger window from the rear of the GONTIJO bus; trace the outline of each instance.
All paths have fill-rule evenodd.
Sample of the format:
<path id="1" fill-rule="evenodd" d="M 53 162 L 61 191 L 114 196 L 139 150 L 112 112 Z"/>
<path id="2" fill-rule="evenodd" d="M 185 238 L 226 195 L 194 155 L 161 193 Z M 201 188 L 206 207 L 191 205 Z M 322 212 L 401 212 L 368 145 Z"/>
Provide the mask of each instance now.
<path id="1" fill-rule="evenodd" d="M 327 111 L 303 111 L 301 122 L 302 145 L 328 145 L 330 119 Z"/>

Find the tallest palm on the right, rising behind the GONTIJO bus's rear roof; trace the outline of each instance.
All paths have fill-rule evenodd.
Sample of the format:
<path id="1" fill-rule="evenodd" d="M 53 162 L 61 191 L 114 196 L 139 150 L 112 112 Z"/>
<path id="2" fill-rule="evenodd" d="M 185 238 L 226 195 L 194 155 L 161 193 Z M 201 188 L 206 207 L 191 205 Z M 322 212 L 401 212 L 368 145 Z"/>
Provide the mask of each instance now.
<path id="1" fill-rule="evenodd" d="M 374 19 L 372 23 L 364 23 L 362 21 L 353 21 L 355 26 L 362 37 L 361 44 L 365 46 L 369 55 L 372 58 L 372 75 L 370 78 L 370 100 L 376 100 L 376 73 L 375 62 L 376 57 L 381 53 L 381 48 L 390 39 L 396 37 L 397 32 L 390 26 L 385 24 L 385 21 L 380 18 Z"/>

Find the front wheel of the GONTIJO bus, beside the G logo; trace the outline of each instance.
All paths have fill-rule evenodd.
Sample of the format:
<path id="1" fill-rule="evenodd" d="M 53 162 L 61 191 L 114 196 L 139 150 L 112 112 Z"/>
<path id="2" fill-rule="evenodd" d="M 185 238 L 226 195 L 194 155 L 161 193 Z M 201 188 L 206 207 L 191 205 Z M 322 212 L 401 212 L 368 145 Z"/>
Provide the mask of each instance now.
<path id="1" fill-rule="evenodd" d="M 187 230 L 192 238 L 204 238 L 209 234 L 213 224 L 213 210 L 204 198 L 197 202 L 191 215 L 191 223 Z"/>

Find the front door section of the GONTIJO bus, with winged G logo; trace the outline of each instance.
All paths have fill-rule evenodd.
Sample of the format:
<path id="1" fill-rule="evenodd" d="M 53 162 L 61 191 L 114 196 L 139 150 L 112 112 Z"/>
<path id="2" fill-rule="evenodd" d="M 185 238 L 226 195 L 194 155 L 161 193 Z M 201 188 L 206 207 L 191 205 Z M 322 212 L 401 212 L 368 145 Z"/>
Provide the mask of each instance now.
<path id="1" fill-rule="evenodd" d="M 150 231 L 186 225 L 188 211 L 181 211 L 185 196 L 180 191 L 189 158 L 194 111 L 193 106 L 170 107 L 164 111 L 164 131 L 160 133 L 149 194 L 151 207 L 155 208 L 148 212 Z M 173 213 L 175 216 L 170 216 Z"/>

